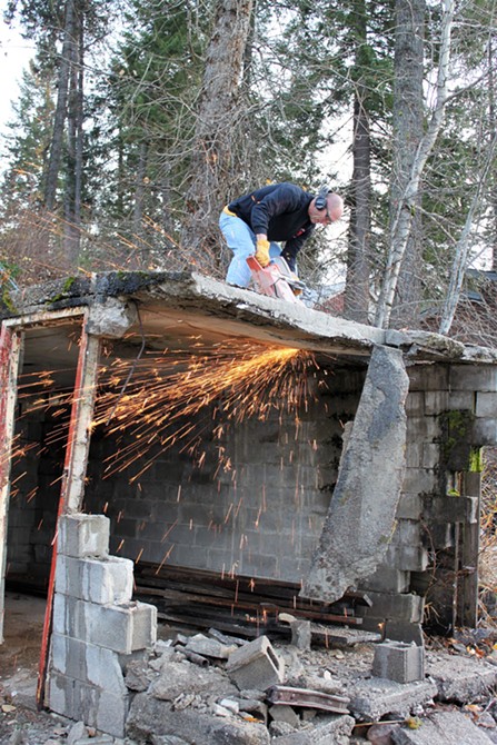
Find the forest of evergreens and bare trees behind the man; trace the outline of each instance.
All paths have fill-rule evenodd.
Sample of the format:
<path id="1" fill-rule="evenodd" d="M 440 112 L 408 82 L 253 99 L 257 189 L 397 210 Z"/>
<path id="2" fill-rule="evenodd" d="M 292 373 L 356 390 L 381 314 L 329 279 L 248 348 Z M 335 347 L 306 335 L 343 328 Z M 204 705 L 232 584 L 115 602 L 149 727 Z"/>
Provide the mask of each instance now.
<path id="1" fill-rule="evenodd" d="M 99 270 L 223 278 L 223 205 L 326 182 L 347 209 L 299 258 L 316 307 L 494 346 L 491 0 L 11 0 L 4 20 L 36 49 L 2 143 L 4 298 Z"/>

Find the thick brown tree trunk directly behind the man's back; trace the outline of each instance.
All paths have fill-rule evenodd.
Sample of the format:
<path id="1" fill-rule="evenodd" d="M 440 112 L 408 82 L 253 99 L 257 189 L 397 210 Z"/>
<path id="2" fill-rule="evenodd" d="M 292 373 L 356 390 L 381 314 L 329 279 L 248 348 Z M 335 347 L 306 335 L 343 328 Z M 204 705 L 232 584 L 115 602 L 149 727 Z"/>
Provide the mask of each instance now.
<path id="1" fill-rule="evenodd" d="M 210 272 L 218 264 L 218 218 L 229 192 L 237 148 L 233 131 L 251 9 L 252 0 L 222 0 L 217 4 L 199 97 L 181 244 L 192 262 Z"/>

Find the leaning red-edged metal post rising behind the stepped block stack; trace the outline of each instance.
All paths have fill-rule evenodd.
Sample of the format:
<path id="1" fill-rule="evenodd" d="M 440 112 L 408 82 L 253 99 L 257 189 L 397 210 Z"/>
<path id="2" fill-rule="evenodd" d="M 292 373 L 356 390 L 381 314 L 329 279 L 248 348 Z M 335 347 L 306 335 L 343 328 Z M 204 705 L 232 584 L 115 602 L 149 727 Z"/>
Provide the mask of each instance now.
<path id="1" fill-rule="evenodd" d="M 72 399 L 69 435 L 62 474 L 57 525 L 63 513 L 73 513 L 81 508 L 85 490 L 85 476 L 89 449 L 89 431 L 93 415 L 95 394 L 98 377 L 100 339 L 86 331 L 86 317 L 81 327 L 78 367 Z M 57 529 L 53 537 L 50 578 L 41 639 L 40 665 L 38 670 L 37 705 L 44 705 L 44 689 L 49 657 L 49 643 L 52 628 L 53 595 L 57 567 Z"/>

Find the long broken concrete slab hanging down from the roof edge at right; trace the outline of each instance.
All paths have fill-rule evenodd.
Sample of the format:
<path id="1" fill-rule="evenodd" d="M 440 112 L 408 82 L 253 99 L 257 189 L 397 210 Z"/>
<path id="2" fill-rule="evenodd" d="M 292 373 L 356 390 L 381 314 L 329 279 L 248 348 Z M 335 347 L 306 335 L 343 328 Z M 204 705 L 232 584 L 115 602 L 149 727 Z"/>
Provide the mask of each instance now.
<path id="1" fill-rule="evenodd" d="M 408 383 L 401 352 L 376 347 L 304 597 L 339 599 L 386 554 L 404 479 Z"/>

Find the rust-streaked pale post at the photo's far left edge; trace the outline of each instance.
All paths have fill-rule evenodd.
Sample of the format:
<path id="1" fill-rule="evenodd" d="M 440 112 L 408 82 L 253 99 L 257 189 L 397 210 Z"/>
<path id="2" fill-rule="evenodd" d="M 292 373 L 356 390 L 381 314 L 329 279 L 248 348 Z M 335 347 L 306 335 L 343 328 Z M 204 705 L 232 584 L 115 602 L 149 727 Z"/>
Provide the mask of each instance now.
<path id="1" fill-rule="evenodd" d="M 3 642 L 10 456 L 21 350 L 22 334 L 2 324 L 0 331 L 0 644 Z"/>

